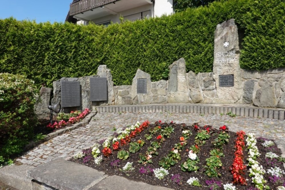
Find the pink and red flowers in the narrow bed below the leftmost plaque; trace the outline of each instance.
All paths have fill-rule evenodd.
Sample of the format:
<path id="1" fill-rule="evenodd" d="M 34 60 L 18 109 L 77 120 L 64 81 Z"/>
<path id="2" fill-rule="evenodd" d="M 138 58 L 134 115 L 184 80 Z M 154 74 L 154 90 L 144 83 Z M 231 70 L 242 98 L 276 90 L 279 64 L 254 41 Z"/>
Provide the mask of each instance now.
<path id="1" fill-rule="evenodd" d="M 64 120 L 64 117 L 62 116 L 62 120 L 60 120 L 60 122 L 54 122 L 53 124 L 49 123 L 47 125 L 47 127 L 49 128 L 53 128 L 53 129 L 59 129 L 59 128 L 62 128 L 68 124 L 73 124 L 73 123 L 76 123 L 76 122 L 79 122 L 80 120 L 82 120 L 83 118 L 86 117 L 86 115 L 90 113 L 90 110 L 88 108 L 86 108 L 82 113 L 80 111 L 71 111 L 70 114 L 74 115 L 74 114 L 78 114 L 78 116 L 76 117 L 70 117 L 69 120 L 66 122 Z M 60 119 L 61 117 L 57 117 L 57 119 Z"/>

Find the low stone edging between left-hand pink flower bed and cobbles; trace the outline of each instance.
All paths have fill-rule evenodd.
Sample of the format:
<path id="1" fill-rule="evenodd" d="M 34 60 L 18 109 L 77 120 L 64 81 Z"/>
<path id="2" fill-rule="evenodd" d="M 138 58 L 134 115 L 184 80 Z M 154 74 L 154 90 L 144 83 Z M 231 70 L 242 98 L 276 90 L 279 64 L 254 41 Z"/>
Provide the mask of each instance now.
<path id="1" fill-rule="evenodd" d="M 52 132 L 50 134 L 47 134 L 47 136 L 44 139 L 42 139 L 42 140 L 39 140 L 39 141 L 36 141 L 36 142 L 34 142 L 34 141 L 30 142 L 29 144 L 27 144 L 25 146 L 24 151 L 30 150 L 31 148 L 33 148 L 33 147 L 35 147 L 35 146 L 37 146 L 37 145 L 39 145 L 39 144 L 41 144 L 43 142 L 46 142 L 46 141 L 50 140 L 51 138 L 54 138 L 54 137 L 56 137 L 58 135 L 61 135 L 61 134 L 65 133 L 65 132 L 72 131 L 74 129 L 77 129 L 79 127 L 87 125 L 90 122 L 91 118 L 94 117 L 96 114 L 97 114 L 97 111 L 91 111 L 91 113 L 89 113 L 79 123 L 75 123 L 72 126 L 69 126 L 69 127 L 66 127 L 66 128 L 62 128 L 62 129 L 54 131 L 54 132 Z"/>

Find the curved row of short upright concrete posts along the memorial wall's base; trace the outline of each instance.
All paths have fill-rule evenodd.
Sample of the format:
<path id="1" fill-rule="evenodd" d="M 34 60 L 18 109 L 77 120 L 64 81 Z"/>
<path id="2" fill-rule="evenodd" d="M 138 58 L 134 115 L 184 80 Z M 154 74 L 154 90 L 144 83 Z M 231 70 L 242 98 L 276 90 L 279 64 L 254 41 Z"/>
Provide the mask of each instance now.
<path id="1" fill-rule="evenodd" d="M 94 106 L 93 110 L 102 112 L 137 112 L 137 113 L 203 113 L 224 114 L 231 112 L 237 116 L 281 119 L 285 118 L 285 109 L 260 108 L 248 105 L 213 105 L 213 104 L 155 104 L 155 105 L 113 105 Z"/>

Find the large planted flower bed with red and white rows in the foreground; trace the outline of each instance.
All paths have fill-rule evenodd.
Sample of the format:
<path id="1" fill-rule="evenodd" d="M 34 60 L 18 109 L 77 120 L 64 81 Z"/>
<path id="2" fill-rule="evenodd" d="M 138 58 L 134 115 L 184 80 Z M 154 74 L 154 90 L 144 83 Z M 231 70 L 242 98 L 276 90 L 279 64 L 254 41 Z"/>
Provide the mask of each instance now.
<path id="1" fill-rule="evenodd" d="M 267 139 L 254 139 L 243 131 L 230 132 L 227 126 L 137 122 L 71 161 L 172 189 L 285 187 L 280 150 Z"/>

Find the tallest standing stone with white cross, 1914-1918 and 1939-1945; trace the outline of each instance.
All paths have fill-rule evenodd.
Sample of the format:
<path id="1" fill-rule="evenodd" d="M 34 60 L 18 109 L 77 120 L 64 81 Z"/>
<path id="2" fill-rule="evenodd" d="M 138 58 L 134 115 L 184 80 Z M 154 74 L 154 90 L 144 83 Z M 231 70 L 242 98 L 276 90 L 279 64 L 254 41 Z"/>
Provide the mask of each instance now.
<path id="1" fill-rule="evenodd" d="M 236 103 L 242 96 L 239 66 L 239 37 L 234 19 L 217 25 L 215 30 L 213 78 L 215 103 Z"/>

